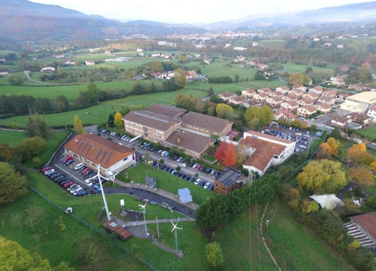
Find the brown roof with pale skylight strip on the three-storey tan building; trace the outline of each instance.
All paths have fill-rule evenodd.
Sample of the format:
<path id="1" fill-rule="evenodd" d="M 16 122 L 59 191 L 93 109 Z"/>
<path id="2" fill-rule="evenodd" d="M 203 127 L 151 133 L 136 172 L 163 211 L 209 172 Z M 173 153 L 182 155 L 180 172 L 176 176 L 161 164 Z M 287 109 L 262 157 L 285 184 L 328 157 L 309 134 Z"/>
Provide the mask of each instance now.
<path id="1" fill-rule="evenodd" d="M 130 111 L 122 119 L 161 131 L 167 130 L 174 123 L 181 123 L 180 120 L 144 110 Z"/>

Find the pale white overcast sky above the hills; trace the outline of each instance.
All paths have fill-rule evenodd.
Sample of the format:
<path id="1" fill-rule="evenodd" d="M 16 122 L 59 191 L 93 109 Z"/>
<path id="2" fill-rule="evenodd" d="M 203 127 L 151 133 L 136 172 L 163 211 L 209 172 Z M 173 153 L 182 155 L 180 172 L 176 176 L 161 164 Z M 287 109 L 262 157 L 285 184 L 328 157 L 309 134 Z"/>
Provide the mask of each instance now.
<path id="1" fill-rule="evenodd" d="M 366 0 L 32 0 L 43 4 L 56 4 L 91 15 L 109 19 L 136 20 L 168 23 L 218 22 L 240 19 L 258 13 L 281 13 L 328 6 L 361 3 Z"/>

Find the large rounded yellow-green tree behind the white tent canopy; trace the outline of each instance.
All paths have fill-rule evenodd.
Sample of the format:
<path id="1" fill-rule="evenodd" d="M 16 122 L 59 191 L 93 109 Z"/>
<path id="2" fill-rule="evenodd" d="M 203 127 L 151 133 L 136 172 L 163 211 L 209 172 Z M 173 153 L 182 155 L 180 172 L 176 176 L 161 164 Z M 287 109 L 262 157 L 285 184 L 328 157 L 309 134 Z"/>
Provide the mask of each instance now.
<path id="1" fill-rule="evenodd" d="M 310 192 L 333 193 L 346 184 L 346 175 L 340 162 L 312 160 L 298 174 L 297 182 Z"/>

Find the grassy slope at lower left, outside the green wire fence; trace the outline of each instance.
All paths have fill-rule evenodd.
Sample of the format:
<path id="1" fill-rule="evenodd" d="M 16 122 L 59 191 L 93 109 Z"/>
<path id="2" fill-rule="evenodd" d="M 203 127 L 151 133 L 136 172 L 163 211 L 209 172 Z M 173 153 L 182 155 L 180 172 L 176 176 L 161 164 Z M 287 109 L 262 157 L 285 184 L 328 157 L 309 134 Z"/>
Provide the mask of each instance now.
<path id="1" fill-rule="evenodd" d="M 41 177 L 42 175 L 39 174 Z M 44 178 L 44 177 L 42 177 Z M 48 181 L 48 180 L 47 180 Z M 30 204 L 41 207 L 44 211 L 41 223 L 32 230 L 26 225 L 25 220 L 20 226 L 14 226 L 11 223 L 12 214 L 25 215 L 25 210 Z M 67 205 L 63 205 L 64 207 Z M 27 195 L 18 198 L 16 201 L 2 205 L 0 216 L 3 221 L 1 235 L 20 243 L 30 254 L 37 252 L 43 259 L 48 259 L 52 266 L 58 265 L 61 261 L 70 262 L 71 267 L 79 268 L 80 260 L 75 256 L 80 252 L 74 246 L 74 241 L 79 236 L 90 236 L 100 240 L 97 232 L 92 231 L 85 225 L 81 224 L 73 217 L 67 216 L 60 209 L 47 203 L 35 192 L 29 190 Z M 67 228 L 64 232 L 56 229 L 52 223 L 61 216 Z M 49 232 L 46 234 L 46 232 Z M 34 235 L 35 234 L 35 235 Z M 38 238 L 35 238 L 35 237 Z M 102 242 L 108 242 L 105 239 Z M 124 252 L 115 247 L 111 249 L 111 261 L 104 262 L 103 266 L 106 270 L 118 270 L 117 265 L 127 266 L 132 270 L 147 270 L 147 267 L 141 264 L 131 255 L 124 257 Z"/>

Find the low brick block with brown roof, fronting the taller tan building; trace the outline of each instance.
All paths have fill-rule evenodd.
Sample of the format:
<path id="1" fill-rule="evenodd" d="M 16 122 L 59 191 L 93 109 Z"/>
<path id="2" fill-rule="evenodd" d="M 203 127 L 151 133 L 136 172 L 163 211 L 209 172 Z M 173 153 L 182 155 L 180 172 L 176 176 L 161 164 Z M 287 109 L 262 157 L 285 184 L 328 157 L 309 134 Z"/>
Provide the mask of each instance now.
<path id="1" fill-rule="evenodd" d="M 177 148 L 182 153 L 201 158 L 214 145 L 215 139 L 185 130 L 173 131 L 165 140 L 167 147 Z"/>

